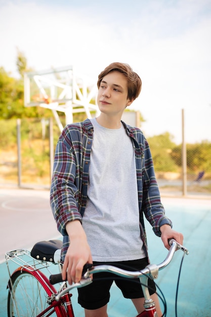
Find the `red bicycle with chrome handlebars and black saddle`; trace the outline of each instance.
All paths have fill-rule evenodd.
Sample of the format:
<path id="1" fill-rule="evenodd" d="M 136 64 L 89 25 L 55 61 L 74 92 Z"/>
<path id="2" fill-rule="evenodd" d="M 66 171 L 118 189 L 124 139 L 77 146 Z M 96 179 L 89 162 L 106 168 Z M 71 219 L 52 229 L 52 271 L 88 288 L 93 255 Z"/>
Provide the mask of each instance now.
<path id="1" fill-rule="evenodd" d="M 6 253 L 6 263 L 10 275 L 8 317 L 74 317 L 71 304 L 72 295 L 69 292 L 73 288 L 84 287 L 92 283 L 91 275 L 99 272 L 111 272 L 128 279 L 139 278 L 145 297 L 145 310 L 137 317 L 156 317 L 155 305 L 147 287 L 148 278 L 157 279 L 158 271 L 171 262 L 176 250 L 180 249 L 184 255 L 188 254 L 185 247 L 172 239 L 165 260 L 158 265 L 149 264 L 141 271 L 129 271 L 111 265 L 88 265 L 87 268 L 85 267 L 85 273 L 79 283 L 67 285 L 61 279 L 61 245 L 60 240 L 51 240 L 35 244 L 31 252 L 19 249 Z M 11 263 L 18 265 L 12 274 Z M 59 267 L 59 274 L 51 274 L 50 268 L 54 265 Z M 57 289 L 53 286 L 54 284 L 58 284 Z M 165 314 L 164 308 L 163 316 Z"/>

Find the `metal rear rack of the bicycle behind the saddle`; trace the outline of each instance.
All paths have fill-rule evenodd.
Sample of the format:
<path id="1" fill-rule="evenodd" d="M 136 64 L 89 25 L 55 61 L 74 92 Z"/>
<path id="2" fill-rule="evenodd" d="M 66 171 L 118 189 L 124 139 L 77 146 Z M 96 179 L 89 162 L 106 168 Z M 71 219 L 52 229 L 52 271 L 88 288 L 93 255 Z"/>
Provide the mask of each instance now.
<path id="1" fill-rule="evenodd" d="M 46 261 L 36 260 L 32 258 L 30 251 L 25 249 L 18 249 L 5 253 L 6 263 L 9 266 L 9 261 L 17 264 L 18 266 L 24 267 L 29 271 L 40 270 L 47 268 L 51 265 Z"/>

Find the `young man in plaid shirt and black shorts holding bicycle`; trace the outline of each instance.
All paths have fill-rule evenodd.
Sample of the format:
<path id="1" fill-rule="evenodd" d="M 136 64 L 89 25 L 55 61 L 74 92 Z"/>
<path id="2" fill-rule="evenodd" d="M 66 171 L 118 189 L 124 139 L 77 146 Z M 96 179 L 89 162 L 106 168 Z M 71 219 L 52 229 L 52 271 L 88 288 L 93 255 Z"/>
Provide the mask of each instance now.
<path id="1" fill-rule="evenodd" d="M 51 207 L 63 235 L 63 279 L 78 282 L 86 263 L 148 263 L 144 218 L 168 249 L 168 239 L 183 243 L 165 216 L 149 145 L 138 128 L 121 122 L 124 109 L 141 91 L 141 79 L 128 64 L 112 63 L 98 77 L 100 115 L 67 125 L 57 144 L 51 185 Z M 94 281 L 78 289 L 86 317 L 107 317 L 113 280 Z M 138 313 L 144 310 L 140 284 L 115 281 Z M 158 316 L 153 282 L 150 293 Z"/>

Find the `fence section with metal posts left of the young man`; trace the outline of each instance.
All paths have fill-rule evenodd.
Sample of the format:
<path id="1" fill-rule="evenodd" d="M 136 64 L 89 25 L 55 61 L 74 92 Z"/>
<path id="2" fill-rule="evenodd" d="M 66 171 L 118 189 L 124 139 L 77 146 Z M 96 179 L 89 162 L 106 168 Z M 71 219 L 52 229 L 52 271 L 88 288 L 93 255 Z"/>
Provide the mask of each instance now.
<path id="1" fill-rule="evenodd" d="M 59 134 L 51 120 L 1 120 L 0 183 L 49 187 Z"/>

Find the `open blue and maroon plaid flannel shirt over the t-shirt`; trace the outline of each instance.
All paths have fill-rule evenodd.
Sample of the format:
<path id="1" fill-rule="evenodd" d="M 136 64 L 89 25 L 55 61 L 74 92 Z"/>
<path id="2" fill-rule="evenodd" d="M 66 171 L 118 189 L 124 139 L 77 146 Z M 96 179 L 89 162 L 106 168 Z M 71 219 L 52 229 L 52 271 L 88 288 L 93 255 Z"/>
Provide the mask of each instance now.
<path id="1" fill-rule="evenodd" d="M 126 133 L 133 142 L 136 159 L 140 231 L 147 254 L 144 215 L 157 236 L 160 226 L 172 222 L 165 216 L 155 178 L 152 156 L 142 131 L 123 123 Z M 61 258 L 64 260 L 69 238 L 65 229 L 67 222 L 82 222 L 86 209 L 89 164 L 93 141 L 93 126 L 89 119 L 67 125 L 62 131 L 54 159 L 50 203 L 59 232 L 63 235 Z"/>

